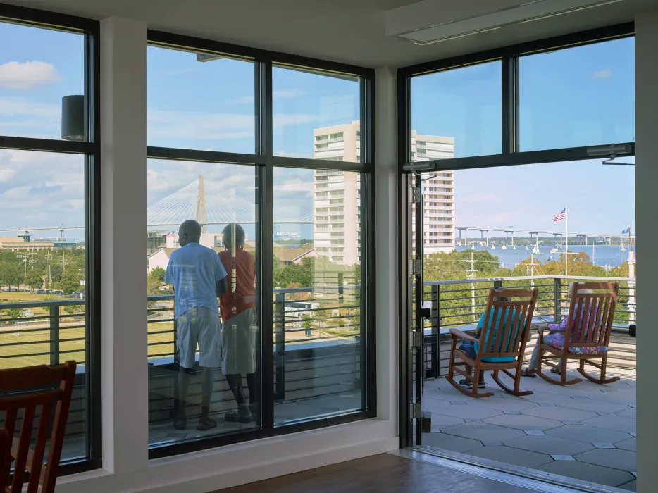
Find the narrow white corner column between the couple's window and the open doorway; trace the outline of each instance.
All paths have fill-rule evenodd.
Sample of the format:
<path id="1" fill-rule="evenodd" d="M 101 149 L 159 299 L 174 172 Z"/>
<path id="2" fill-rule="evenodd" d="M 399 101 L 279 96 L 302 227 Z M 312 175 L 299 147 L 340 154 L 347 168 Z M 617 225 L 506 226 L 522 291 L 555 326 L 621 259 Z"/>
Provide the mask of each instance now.
<path id="1" fill-rule="evenodd" d="M 397 430 L 399 230 L 397 72 L 375 72 L 375 273 L 377 276 L 377 408 Z"/>

